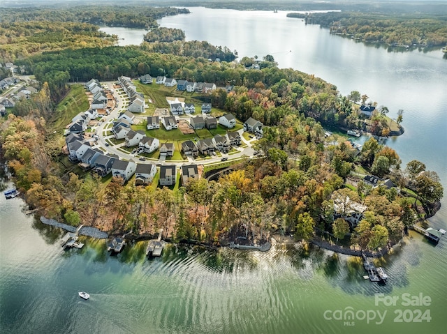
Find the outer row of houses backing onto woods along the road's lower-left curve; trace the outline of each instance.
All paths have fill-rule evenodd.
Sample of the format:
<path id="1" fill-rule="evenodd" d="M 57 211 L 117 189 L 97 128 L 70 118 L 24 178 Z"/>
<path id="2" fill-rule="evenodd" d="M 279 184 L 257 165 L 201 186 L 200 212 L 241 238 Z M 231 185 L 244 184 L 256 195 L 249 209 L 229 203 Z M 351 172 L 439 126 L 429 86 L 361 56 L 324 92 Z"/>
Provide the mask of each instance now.
<path id="1" fill-rule="evenodd" d="M 154 163 L 136 163 L 133 160 L 119 160 L 117 155 L 106 154 L 99 149 L 93 149 L 89 142 L 79 134 L 70 134 L 66 137 L 68 158 L 85 170 L 91 169 L 99 176 L 112 174 L 120 177 L 123 183 L 129 181 L 135 175 L 135 185 L 148 185 L 152 183 L 157 173 Z M 186 185 L 191 179 L 200 177 L 198 165 L 184 165 L 179 167 L 182 185 Z M 162 165 L 160 167 L 160 185 L 175 185 L 177 181 L 177 167 L 175 165 Z"/>

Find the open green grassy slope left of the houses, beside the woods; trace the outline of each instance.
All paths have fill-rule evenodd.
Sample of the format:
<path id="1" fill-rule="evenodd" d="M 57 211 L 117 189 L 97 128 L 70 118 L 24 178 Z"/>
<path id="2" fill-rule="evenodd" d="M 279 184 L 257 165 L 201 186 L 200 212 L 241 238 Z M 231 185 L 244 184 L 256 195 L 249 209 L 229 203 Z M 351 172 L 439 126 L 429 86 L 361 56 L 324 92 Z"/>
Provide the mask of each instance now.
<path id="1" fill-rule="evenodd" d="M 57 105 L 56 112 L 49 123 L 50 131 L 64 129 L 74 116 L 89 109 L 89 100 L 82 84 L 73 84 L 66 98 Z"/>

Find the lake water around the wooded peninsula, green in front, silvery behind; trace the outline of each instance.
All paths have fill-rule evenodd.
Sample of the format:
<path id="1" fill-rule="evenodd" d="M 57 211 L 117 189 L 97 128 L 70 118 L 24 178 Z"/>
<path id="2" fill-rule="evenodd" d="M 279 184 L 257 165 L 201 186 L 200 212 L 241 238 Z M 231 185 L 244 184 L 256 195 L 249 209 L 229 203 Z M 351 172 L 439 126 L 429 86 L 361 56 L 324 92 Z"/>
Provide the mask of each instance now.
<path id="1" fill-rule="evenodd" d="M 447 189 L 447 62 L 441 51 L 386 52 L 330 36 L 284 12 L 190 10 L 159 22 L 183 29 L 188 40 L 226 45 L 240 57 L 272 54 L 279 67 L 314 73 L 344 95 L 367 93 L 388 106 L 390 116 L 404 109 L 406 132 L 387 144 L 404 163 L 416 158 L 436 170 Z M 446 199 L 442 204 L 430 222 L 447 229 Z M 362 266 L 351 257 L 293 245 L 265 253 L 171 245 L 149 261 L 145 242 L 109 257 L 104 241 L 84 238 L 85 248 L 64 252 L 63 232 L 24 215 L 23 205 L 0 196 L 1 333 L 419 334 L 444 333 L 447 325 L 447 237 L 434 247 L 411 233 L 383 259 L 390 279 L 380 286 L 363 280 Z M 78 291 L 91 299 L 82 301 Z M 376 293 L 397 300 L 386 305 Z M 420 301 L 420 294 L 430 303 L 406 305 L 406 297 Z M 350 310 L 351 320 L 339 319 Z"/>

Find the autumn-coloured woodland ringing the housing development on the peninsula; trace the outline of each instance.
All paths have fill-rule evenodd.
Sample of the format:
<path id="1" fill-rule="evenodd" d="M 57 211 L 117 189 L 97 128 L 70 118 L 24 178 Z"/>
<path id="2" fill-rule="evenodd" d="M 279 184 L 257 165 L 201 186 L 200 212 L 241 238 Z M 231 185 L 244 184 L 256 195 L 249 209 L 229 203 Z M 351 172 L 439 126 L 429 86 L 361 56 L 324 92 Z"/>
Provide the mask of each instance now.
<path id="1" fill-rule="evenodd" d="M 69 225 L 135 238 L 163 227 L 173 241 L 225 245 L 243 230 L 252 241 L 293 234 L 368 250 L 399 241 L 406 229 L 436 212 L 444 195 L 439 177 L 416 160 L 401 167 L 398 153 L 380 143 L 390 134 L 388 108 L 377 107 L 365 120 L 358 103 L 368 102 L 366 92 L 342 96 L 314 75 L 278 68 L 268 54 L 262 60 L 210 61 L 185 51 L 159 52 L 158 43 L 170 45 L 84 47 L 15 59 L 24 75 L 36 77 L 38 93 L 1 118 L 1 153 L 31 208 Z M 172 43 L 200 48 L 199 42 Z M 206 45 L 236 59 L 225 47 Z M 170 188 L 136 186 L 133 179 L 123 184 L 68 162 L 62 151 L 64 122 L 89 109 L 85 89 L 77 83 L 147 74 L 222 87 L 210 94 L 180 95 L 175 89 L 166 94 L 210 102 L 219 116 L 261 121 L 263 137 L 254 144 L 260 154 L 229 161 L 230 171 L 218 181 L 202 177 Z M 136 80 L 135 85 L 142 89 Z M 156 89 L 147 93 L 158 103 Z M 374 137 L 359 149 L 323 127 L 365 127 Z M 365 176 L 373 174 L 389 182 L 369 183 Z M 353 208 L 361 210 L 358 222 L 349 220 Z"/>

